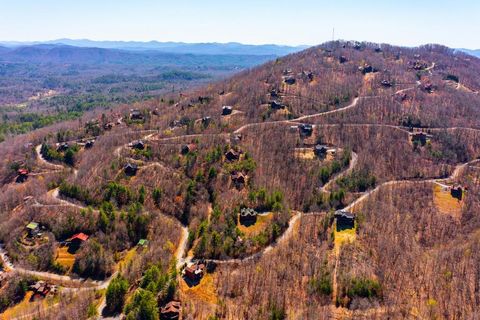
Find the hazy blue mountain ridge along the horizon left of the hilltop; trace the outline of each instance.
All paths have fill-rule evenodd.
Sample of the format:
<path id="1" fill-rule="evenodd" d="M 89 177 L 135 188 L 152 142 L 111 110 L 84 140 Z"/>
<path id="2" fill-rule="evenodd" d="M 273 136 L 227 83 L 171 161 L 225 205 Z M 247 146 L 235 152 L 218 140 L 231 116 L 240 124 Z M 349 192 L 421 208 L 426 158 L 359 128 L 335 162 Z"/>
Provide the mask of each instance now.
<path id="1" fill-rule="evenodd" d="M 184 42 L 139 42 L 139 41 L 92 41 L 87 39 L 58 39 L 44 42 L 1 42 L 4 47 L 24 47 L 36 45 L 68 45 L 81 48 L 121 49 L 127 51 L 159 51 L 182 54 L 210 55 L 273 55 L 284 56 L 301 51 L 308 46 L 282 46 L 274 44 L 246 45 L 230 43 L 184 43 Z"/>

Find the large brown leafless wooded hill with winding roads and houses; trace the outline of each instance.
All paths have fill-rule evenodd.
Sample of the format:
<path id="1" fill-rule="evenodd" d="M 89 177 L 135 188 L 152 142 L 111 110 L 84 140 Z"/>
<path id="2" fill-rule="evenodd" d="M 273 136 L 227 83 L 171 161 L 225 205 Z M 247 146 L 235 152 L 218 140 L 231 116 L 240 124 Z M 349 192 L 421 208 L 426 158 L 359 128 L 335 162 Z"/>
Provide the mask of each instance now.
<path id="1" fill-rule="evenodd" d="M 480 317 L 479 90 L 453 49 L 336 41 L 9 137 L 0 311 Z"/>

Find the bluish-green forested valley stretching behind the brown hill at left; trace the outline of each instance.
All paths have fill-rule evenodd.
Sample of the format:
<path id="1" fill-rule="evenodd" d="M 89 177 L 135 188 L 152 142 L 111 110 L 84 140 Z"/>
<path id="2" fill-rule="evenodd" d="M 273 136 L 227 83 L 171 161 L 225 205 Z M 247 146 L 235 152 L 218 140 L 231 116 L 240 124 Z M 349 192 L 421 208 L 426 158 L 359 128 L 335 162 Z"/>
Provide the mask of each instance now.
<path id="1" fill-rule="evenodd" d="M 274 57 L 62 44 L 0 47 L 0 141 L 95 109 L 182 92 Z"/>

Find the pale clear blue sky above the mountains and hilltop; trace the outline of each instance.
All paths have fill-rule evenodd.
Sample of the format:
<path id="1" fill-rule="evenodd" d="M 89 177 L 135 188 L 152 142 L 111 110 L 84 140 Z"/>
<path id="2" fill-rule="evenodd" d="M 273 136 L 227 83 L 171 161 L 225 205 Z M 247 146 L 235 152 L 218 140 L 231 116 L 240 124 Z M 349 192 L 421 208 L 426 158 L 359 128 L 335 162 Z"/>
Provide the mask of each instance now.
<path id="1" fill-rule="evenodd" d="M 319 44 L 332 38 L 480 48 L 479 0 L 0 0 L 0 40 Z"/>

